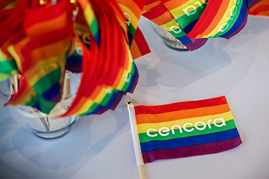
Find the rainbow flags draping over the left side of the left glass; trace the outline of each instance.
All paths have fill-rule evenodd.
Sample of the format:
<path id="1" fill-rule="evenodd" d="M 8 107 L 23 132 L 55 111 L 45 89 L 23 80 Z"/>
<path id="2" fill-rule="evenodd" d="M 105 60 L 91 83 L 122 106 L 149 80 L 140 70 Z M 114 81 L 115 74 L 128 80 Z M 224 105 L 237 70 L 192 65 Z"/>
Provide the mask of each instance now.
<path id="1" fill-rule="evenodd" d="M 5 105 L 29 105 L 49 114 L 61 98 L 75 6 L 68 1 L 44 8 L 32 3 L 19 1 L 1 23 L 10 27 L 0 33 L 6 38 L 1 49 L 14 58 L 21 75 L 18 92 Z"/>

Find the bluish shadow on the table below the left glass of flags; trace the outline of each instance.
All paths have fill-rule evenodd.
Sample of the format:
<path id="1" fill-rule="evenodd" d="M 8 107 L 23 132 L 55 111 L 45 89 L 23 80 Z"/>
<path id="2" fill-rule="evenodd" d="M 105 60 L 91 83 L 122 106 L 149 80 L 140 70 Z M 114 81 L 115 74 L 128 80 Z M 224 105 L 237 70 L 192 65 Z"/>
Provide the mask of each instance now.
<path id="1" fill-rule="evenodd" d="M 37 166 L 30 166 L 31 172 L 23 174 L 36 178 L 71 177 L 115 139 L 128 123 L 128 119 L 120 117 L 128 116 L 127 111 L 124 113 L 107 111 L 96 120 L 99 116 L 81 117 L 65 136 L 51 140 L 38 138 L 20 127 L 12 137 L 13 149 Z"/>

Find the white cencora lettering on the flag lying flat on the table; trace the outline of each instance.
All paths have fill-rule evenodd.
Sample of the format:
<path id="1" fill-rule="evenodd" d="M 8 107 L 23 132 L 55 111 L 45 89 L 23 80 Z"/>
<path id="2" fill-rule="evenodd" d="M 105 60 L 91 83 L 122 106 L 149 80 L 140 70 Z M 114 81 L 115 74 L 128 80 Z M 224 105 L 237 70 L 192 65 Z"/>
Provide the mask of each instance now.
<path id="1" fill-rule="evenodd" d="M 205 130 L 207 127 L 209 129 L 211 129 L 211 125 L 212 125 L 212 120 L 211 119 L 209 119 L 207 121 L 207 124 L 205 122 L 203 122 L 203 121 L 197 121 L 197 122 L 194 123 L 194 126 L 193 126 L 193 123 L 187 122 L 183 126 L 175 124 L 175 125 L 171 126 L 171 130 L 168 127 L 165 127 L 165 126 L 160 127 L 158 129 L 158 133 L 159 133 L 160 136 L 168 136 L 170 131 L 172 132 L 172 135 L 174 135 L 175 134 L 175 129 L 178 129 L 180 131 L 180 133 L 183 133 L 183 130 L 185 132 L 192 132 L 195 129 L 196 130 Z M 225 120 L 223 118 L 216 118 L 216 119 L 213 120 L 213 125 L 215 125 L 216 127 L 222 127 L 222 126 L 226 126 L 226 123 L 225 123 Z M 193 126 L 193 127 L 188 127 L 188 126 Z M 149 128 L 147 130 L 147 136 L 149 136 L 149 137 L 158 136 L 158 133 L 156 133 L 155 131 L 157 131 L 157 129 Z M 154 135 L 152 135 L 150 132 L 154 132 Z"/>

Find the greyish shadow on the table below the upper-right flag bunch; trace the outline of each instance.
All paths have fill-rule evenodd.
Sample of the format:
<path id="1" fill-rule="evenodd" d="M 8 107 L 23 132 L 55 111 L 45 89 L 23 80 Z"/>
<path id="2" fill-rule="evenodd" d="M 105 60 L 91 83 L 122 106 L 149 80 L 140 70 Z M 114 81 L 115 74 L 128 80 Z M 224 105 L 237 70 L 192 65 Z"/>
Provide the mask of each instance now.
<path id="1" fill-rule="evenodd" d="M 151 34 L 150 28 L 145 36 L 151 53 L 135 60 L 140 73 L 136 90 L 149 96 L 151 88 L 165 86 L 173 93 L 205 78 L 208 83 L 205 85 L 217 86 L 221 95 L 228 94 L 251 68 L 258 48 L 257 38 L 253 39 L 266 29 L 262 17 L 259 20 L 250 17 L 246 27 L 231 39 L 211 38 L 196 51 L 182 52 L 166 47 L 159 36 Z M 207 89 L 201 85 L 200 90 L 203 88 Z M 166 96 L 158 98 L 165 101 Z"/>

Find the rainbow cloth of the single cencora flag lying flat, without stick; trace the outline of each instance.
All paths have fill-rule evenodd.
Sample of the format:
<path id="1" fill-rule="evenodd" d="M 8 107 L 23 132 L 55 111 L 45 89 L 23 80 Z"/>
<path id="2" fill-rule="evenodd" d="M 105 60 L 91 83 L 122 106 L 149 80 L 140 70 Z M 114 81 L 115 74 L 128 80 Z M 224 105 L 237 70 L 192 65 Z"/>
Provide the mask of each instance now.
<path id="1" fill-rule="evenodd" d="M 135 106 L 144 163 L 229 150 L 242 142 L 225 96 Z"/>

